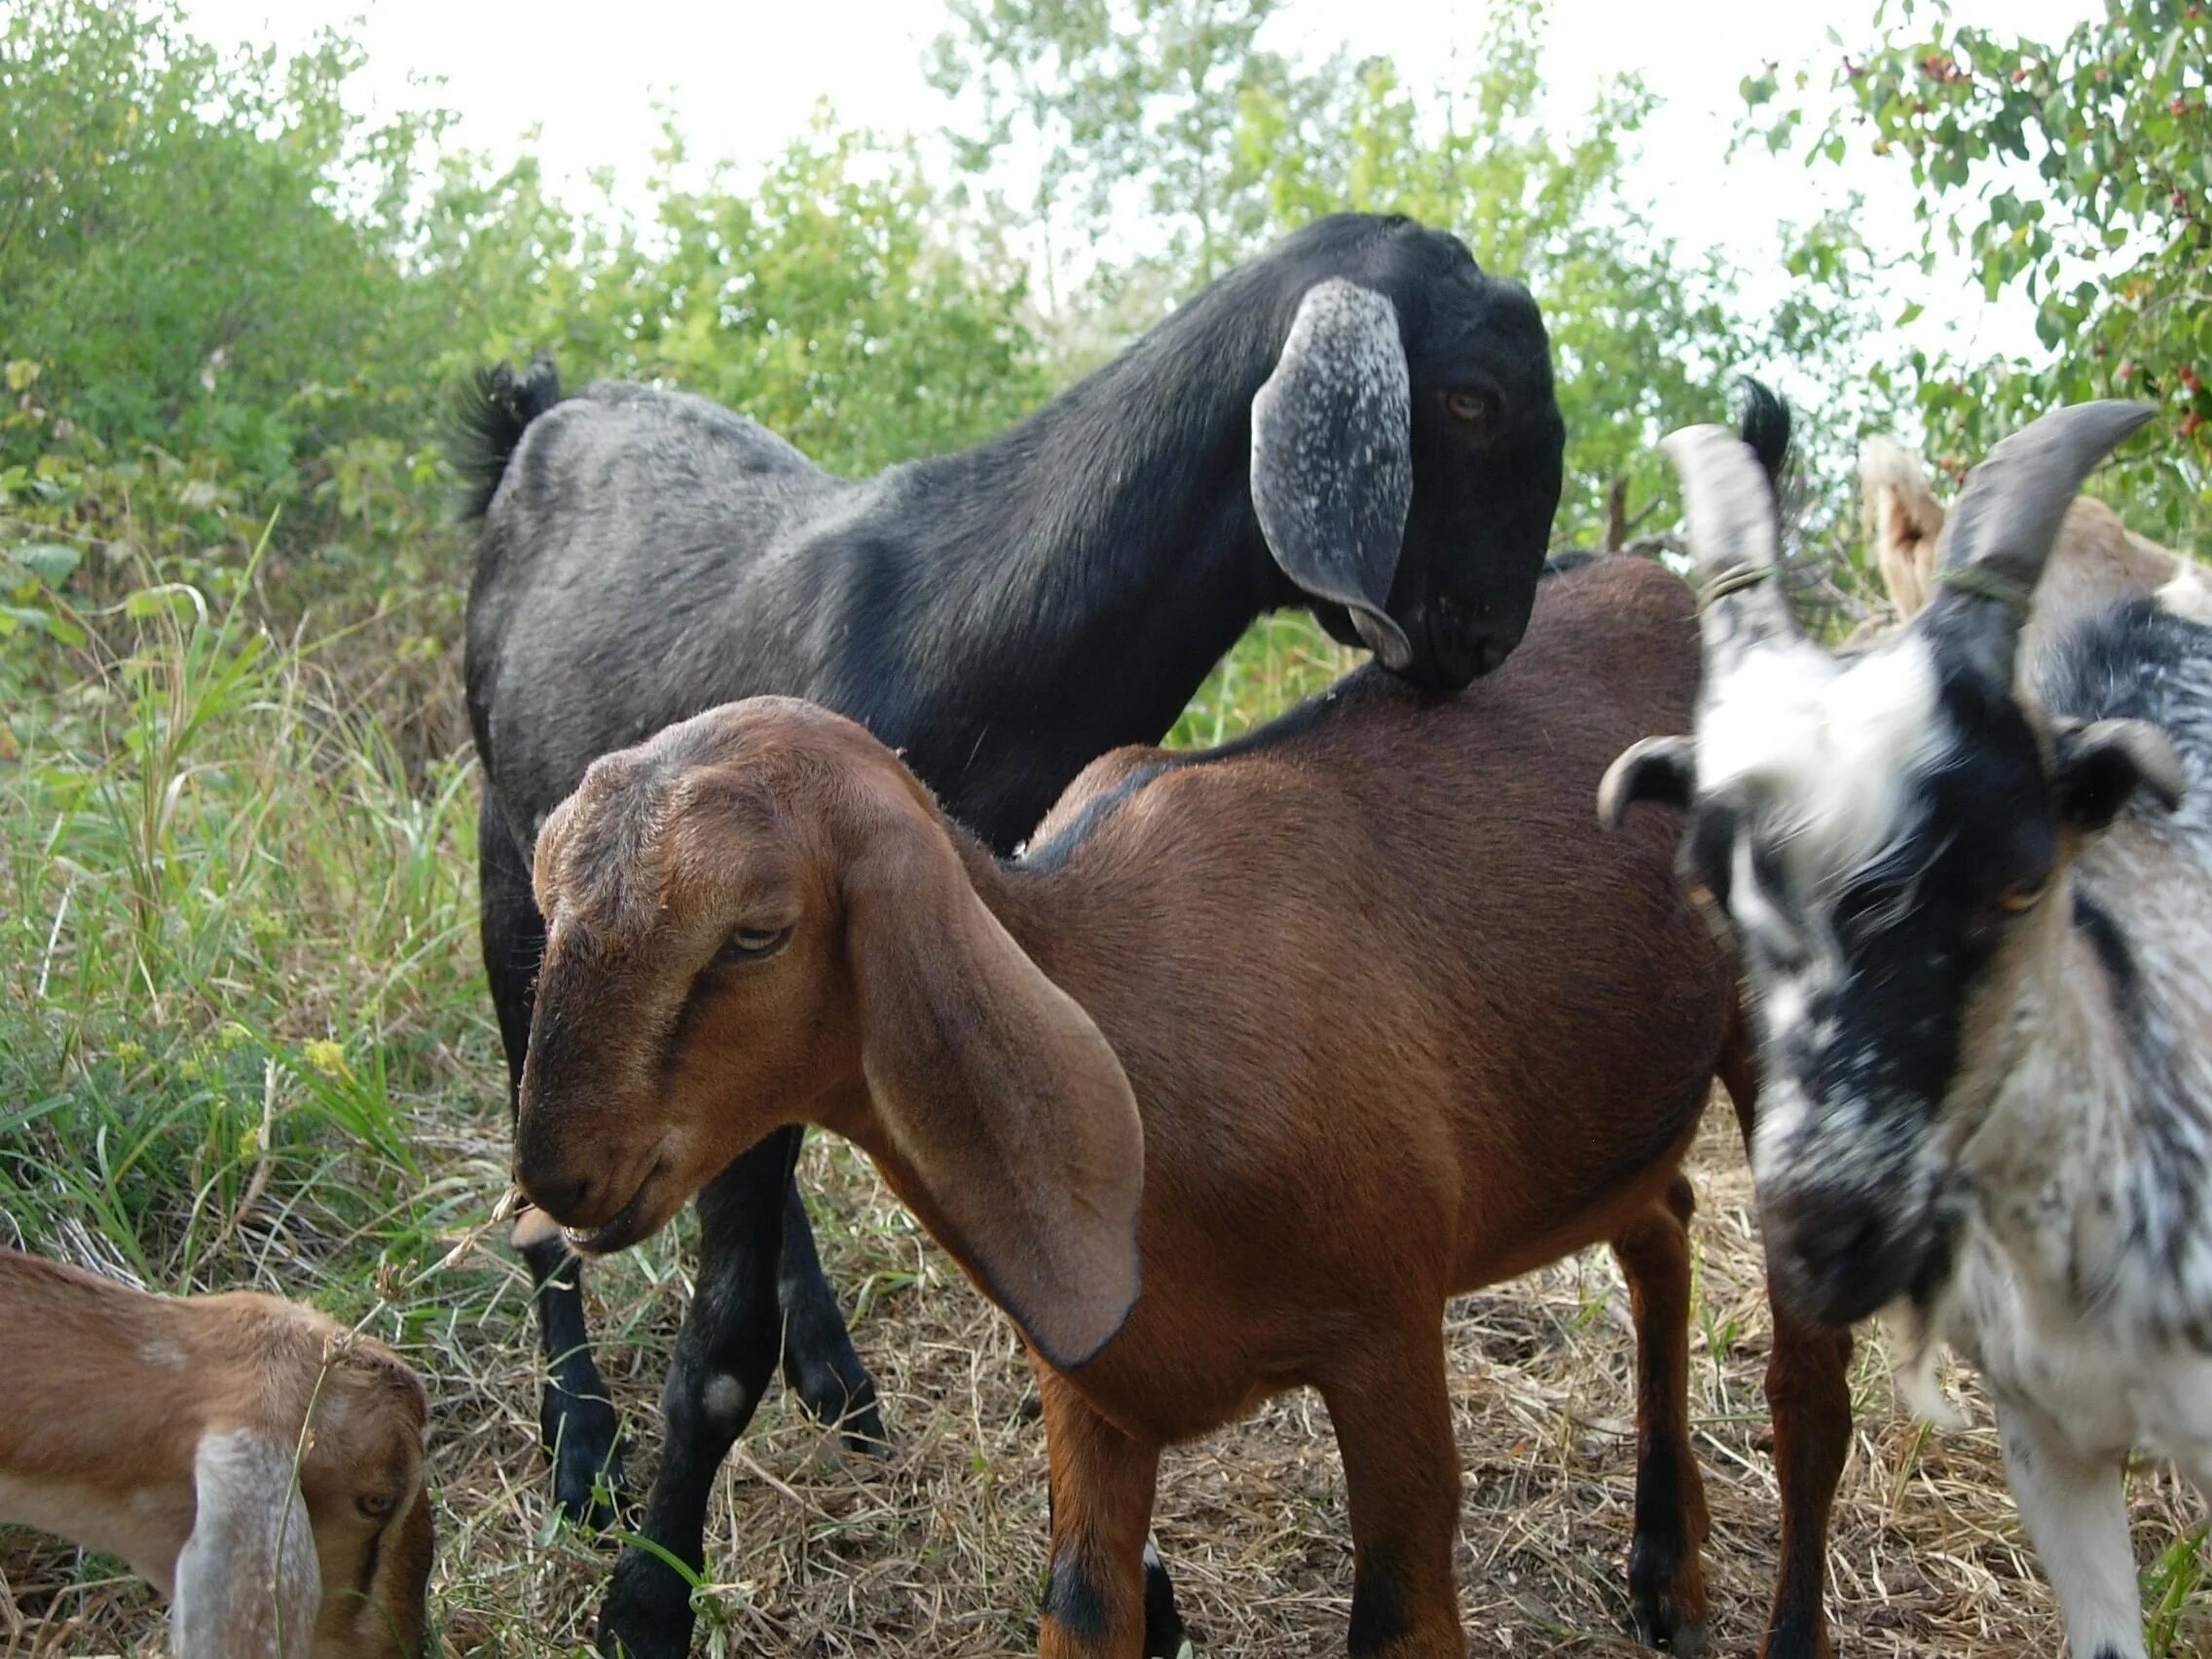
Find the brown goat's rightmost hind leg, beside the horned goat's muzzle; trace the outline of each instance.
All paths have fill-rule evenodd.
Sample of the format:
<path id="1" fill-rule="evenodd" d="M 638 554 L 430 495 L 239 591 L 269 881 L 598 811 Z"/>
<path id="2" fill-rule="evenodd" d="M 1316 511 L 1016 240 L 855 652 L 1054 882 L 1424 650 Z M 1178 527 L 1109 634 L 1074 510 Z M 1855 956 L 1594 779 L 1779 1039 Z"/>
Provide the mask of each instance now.
<path id="1" fill-rule="evenodd" d="M 1736 1108 L 1743 1150 L 1759 1124 L 1759 1071 L 1750 1040 L 1730 1040 L 1721 1082 Z M 1774 1345 L 1767 1352 L 1767 1416 L 1774 1422 L 1774 1473 L 1783 1498 L 1781 1568 L 1767 1617 L 1763 1659 L 1829 1659 L 1827 1515 L 1851 1451 L 1851 1332 L 1798 1318 L 1776 1294 L 1767 1263 L 1767 1307 Z"/>

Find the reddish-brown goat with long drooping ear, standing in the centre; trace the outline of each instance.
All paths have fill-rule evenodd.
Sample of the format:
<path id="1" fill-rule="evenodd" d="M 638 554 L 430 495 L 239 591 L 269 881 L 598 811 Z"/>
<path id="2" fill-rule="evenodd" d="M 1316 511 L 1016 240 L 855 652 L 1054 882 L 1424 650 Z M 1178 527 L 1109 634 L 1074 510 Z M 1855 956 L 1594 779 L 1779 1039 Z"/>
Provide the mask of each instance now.
<path id="1" fill-rule="evenodd" d="M 1460 1659 L 1440 1323 L 1610 1241 L 1639 1343 L 1630 1590 L 1703 1646 L 1679 1175 L 1734 967 L 1610 757 L 1686 719 L 1690 595 L 1601 560 L 1451 701 L 1376 672 L 1210 754 L 1119 750 L 1020 860 L 874 737 L 752 699 L 593 763 L 538 841 L 551 940 L 518 1175 L 617 1250 L 779 1124 L 856 1141 L 1026 1338 L 1051 1444 L 1046 1655 L 1133 1657 L 1161 1449 L 1316 1387 L 1345 1458 L 1352 1650 Z M 1141 1294 L 1139 1294 L 1141 1290 Z M 1825 1650 L 1847 1338 L 1770 1378 L 1774 1655 Z"/>

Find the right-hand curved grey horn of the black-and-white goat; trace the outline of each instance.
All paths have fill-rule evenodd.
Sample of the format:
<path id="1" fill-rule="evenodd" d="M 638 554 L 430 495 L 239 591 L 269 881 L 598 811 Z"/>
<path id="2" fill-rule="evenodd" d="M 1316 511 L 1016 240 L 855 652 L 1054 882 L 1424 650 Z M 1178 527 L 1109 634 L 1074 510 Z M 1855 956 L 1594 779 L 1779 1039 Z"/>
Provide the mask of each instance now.
<path id="1" fill-rule="evenodd" d="M 2075 403 L 2031 420 L 1966 473 L 1944 522 L 1927 626 L 1960 637 L 2004 684 L 2035 584 L 2081 480 L 2150 420 L 2141 403 Z"/>

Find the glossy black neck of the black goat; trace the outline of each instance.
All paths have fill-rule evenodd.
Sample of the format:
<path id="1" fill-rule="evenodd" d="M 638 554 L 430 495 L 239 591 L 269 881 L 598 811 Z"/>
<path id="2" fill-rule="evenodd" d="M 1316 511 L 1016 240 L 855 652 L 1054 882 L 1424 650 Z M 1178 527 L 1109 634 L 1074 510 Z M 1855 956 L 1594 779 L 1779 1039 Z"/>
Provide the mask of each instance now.
<path id="1" fill-rule="evenodd" d="M 900 489 L 931 504 L 914 535 L 931 580 L 964 588 L 960 637 L 989 659 L 962 672 L 1000 721 L 1046 719 L 1086 754 L 1155 741 L 1254 615 L 1298 599 L 1250 487 L 1252 396 L 1296 303 L 1276 288 L 1265 261 L 1237 272 L 1031 418 L 911 469 Z M 1071 664 L 1095 666 L 1075 699 Z"/>

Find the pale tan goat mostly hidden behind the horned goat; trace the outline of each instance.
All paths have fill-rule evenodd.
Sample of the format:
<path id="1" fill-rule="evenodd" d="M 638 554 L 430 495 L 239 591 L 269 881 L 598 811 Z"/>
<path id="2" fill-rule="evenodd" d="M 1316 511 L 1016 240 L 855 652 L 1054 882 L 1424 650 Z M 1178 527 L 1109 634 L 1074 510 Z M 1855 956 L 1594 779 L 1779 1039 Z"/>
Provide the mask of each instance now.
<path id="1" fill-rule="evenodd" d="M 1911 617 L 1933 597 L 1944 507 L 1929 489 L 1920 458 L 1887 438 L 1869 438 L 1860 447 L 1858 493 L 1882 586 L 1898 617 Z M 2163 593 L 2170 611 L 2212 622 L 2212 586 L 2194 560 L 2137 535 L 2095 495 L 2077 495 L 2035 588 L 2022 661 L 2033 661 L 2042 641 L 2055 639 L 2068 624 L 2135 593 Z"/>

